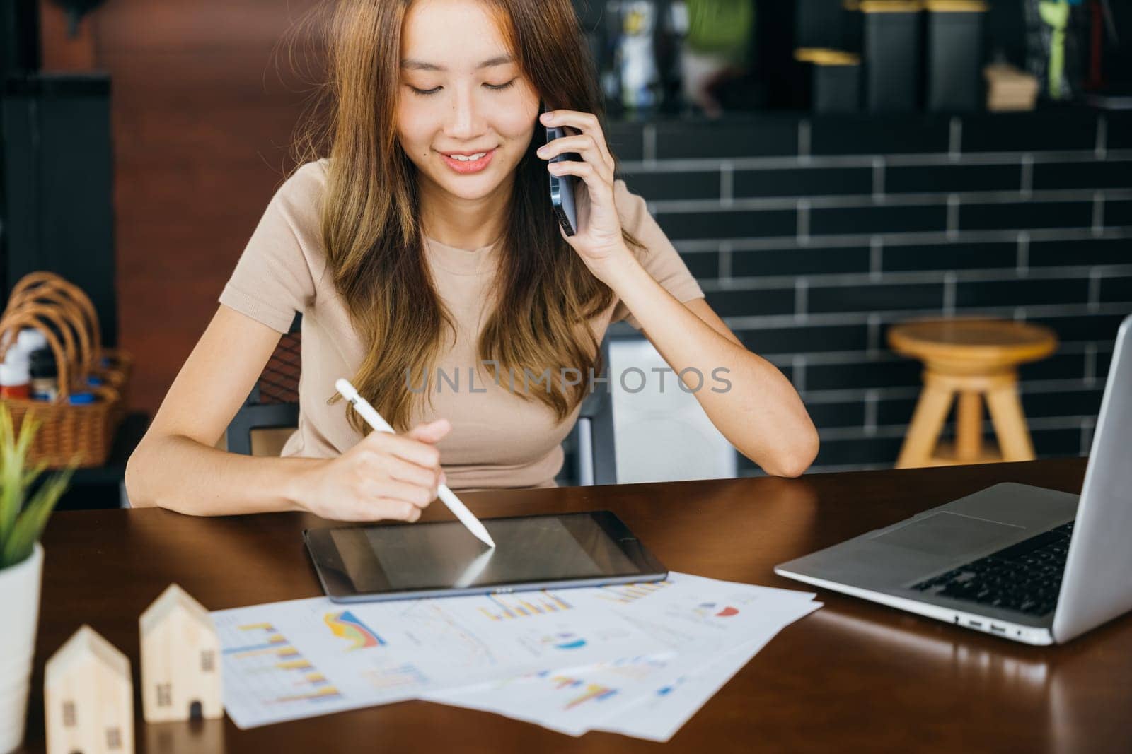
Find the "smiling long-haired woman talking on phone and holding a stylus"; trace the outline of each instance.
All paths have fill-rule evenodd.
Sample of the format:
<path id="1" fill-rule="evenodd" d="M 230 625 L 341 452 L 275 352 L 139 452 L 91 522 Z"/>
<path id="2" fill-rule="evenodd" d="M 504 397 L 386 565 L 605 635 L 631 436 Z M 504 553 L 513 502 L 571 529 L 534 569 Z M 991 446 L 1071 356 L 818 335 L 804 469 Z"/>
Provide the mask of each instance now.
<path id="1" fill-rule="evenodd" d="M 712 312 L 615 181 L 585 49 L 569 0 L 340 6 L 331 157 L 268 205 L 130 458 L 132 505 L 414 521 L 440 483 L 554 486 L 584 375 L 600 374 L 619 319 L 676 372 L 728 370 L 729 390 L 695 395 L 740 452 L 771 474 L 808 467 L 817 435 L 789 381 Z M 572 131 L 544 145 L 546 125 Z M 547 162 L 564 151 L 583 161 Z M 550 211 L 548 172 L 580 179 L 573 236 Z M 295 311 L 298 431 L 281 458 L 215 449 Z M 547 367 L 546 384 L 518 382 Z M 340 376 L 398 434 L 368 433 L 335 395 Z"/>

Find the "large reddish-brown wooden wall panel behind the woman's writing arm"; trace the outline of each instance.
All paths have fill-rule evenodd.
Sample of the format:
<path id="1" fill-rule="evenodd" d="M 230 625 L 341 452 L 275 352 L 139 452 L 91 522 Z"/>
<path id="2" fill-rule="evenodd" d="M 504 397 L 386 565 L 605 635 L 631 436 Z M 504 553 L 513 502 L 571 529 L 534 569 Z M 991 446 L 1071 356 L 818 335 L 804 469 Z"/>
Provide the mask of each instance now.
<path id="1" fill-rule="evenodd" d="M 312 0 L 110 0 L 120 343 L 156 411 L 284 170 L 307 87 L 281 41 Z M 57 47 L 60 45 L 57 44 Z"/>

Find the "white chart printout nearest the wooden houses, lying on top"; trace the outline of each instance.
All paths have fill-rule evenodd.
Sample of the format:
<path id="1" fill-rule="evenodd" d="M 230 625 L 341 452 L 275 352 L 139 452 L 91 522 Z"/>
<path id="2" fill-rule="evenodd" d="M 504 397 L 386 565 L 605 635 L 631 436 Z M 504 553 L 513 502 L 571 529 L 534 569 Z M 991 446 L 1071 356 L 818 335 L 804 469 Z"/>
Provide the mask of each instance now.
<path id="1" fill-rule="evenodd" d="M 213 613 L 224 705 L 241 728 L 414 699 L 489 678 L 667 648 L 571 590 Z"/>

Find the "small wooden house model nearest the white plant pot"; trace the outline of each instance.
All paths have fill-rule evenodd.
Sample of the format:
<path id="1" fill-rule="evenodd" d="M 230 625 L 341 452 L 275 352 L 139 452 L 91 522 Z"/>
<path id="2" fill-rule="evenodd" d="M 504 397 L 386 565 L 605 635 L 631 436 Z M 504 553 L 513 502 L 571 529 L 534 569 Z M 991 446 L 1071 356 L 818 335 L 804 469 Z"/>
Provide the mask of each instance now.
<path id="1" fill-rule="evenodd" d="M 134 754 L 130 660 L 88 625 L 48 660 L 48 754 Z"/>

